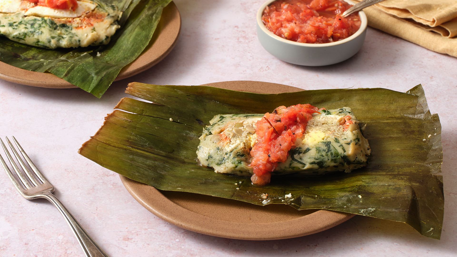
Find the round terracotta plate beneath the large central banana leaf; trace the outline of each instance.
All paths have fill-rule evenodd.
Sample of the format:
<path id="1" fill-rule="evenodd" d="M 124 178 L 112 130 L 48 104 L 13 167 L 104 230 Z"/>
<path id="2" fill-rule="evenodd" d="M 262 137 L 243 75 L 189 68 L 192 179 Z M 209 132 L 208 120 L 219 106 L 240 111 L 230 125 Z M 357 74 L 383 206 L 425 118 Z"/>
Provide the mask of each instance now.
<path id="1" fill-rule="evenodd" d="M 227 81 L 204 86 L 255 93 L 300 91 L 292 86 L 258 81 Z M 285 204 L 260 206 L 195 193 L 159 191 L 120 177 L 133 198 L 159 218 L 210 236 L 244 240 L 285 239 L 314 234 L 354 216 L 328 210 L 299 211 Z"/>

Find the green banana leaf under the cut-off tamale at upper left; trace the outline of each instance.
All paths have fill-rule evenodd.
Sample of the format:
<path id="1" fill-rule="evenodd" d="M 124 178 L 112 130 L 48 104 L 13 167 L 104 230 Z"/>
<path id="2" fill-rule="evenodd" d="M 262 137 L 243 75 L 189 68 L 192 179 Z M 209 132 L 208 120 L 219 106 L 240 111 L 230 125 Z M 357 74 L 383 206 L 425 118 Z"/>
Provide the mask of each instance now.
<path id="1" fill-rule="evenodd" d="M 25 70 L 50 72 L 100 98 L 121 69 L 148 46 L 162 10 L 171 0 L 94 1 L 115 4 L 123 11 L 121 28 L 108 45 L 46 49 L 0 37 L 0 61 Z"/>

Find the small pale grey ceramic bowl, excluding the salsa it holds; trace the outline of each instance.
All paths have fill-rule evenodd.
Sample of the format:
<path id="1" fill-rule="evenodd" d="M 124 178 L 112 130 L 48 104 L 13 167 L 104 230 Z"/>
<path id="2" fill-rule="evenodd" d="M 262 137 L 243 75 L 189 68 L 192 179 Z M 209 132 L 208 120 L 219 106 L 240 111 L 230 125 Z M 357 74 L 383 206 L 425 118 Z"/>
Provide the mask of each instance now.
<path id="1" fill-rule="evenodd" d="M 304 66 L 323 66 L 336 64 L 349 59 L 362 47 L 367 34 L 367 16 L 359 11 L 361 25 L 350 37 L 332 43 L 298 43 L 276 36 L 262 22 L 262 14 L 267 5 L 275 0 L 268 0 L 257 11 L 257 37 L 260 44 L 276 58 L 291 64 Z M 351 5 L 354 2 L 345 0 Z"/>

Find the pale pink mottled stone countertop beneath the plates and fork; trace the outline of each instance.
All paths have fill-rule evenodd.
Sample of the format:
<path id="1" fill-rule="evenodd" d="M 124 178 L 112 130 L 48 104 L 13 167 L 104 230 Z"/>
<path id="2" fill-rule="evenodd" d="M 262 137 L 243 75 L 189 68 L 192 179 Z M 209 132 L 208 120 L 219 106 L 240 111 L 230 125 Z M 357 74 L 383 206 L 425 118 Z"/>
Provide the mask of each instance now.
<path id="1" fill-rule="evenodd" d="M 457 59 L 368 28 L 361 51 L 327 67 L 300 67 L 268 54 L 255 34 L 260 0 L 176 0 L 181 37 L 162 62 L 114 83 L 101 98 L 0 81 L 0 135 L 15 135 L 56 195 L 111 256 L 456 256 Z M 303 89 L 422 84 L 441 118 L 445 216 L 441 240 L 407 225 L 356 216 L 311 236 L 241 241 L 197 234 L 144 209 L 119 176 L 77 154 L 101 126 L 128 82 L 200 85 L 262 80 Z M 46 200 L 28 201 L 0 171 L 0 256 L 81 256 L 68 225 Z"/>

